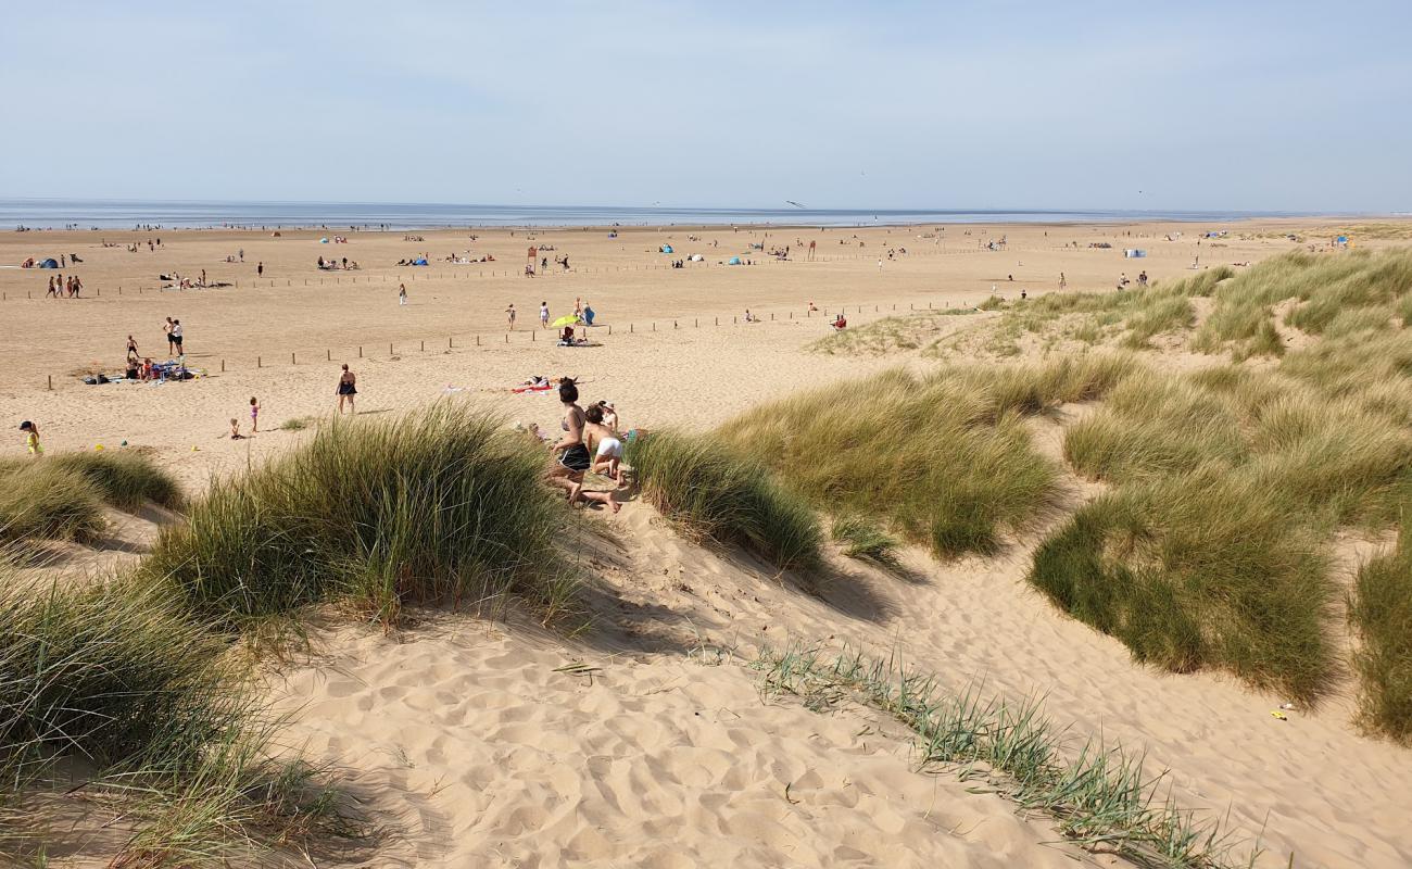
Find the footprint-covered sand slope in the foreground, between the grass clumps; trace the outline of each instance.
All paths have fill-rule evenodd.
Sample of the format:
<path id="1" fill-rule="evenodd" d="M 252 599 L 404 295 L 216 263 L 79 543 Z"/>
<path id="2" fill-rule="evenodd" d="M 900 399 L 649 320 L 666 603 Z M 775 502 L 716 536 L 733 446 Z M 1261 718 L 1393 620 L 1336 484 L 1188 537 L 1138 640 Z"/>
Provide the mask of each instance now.
<path id="1" fill-rule="evenodd" d="M 1018 551 L 947 568 L 912 554 L 918 582 L 839 564 L 819 599 L 681 540 L 644 504 L 614 527 L 617 544 L 585 554 L 611 592 L 592 595 L 586 642 L 452 616 L 397 640 L 346 627 L 277 690 L 298 709 L 291 739 L 352 767 L 395 831 L 373 863 L 1113 865 L 915 772 L 895 725 L 762 697 L 743 661 L 789 639 L 897 651 L 955 688 L 980 675 L 1042 692 L 1077 738 L 1147 746 L 1185 805 L 1228 810 L 1250 835 L 1268 821 L 1262 865 L 1412 859 L 1405 752 L 1350 733 L 1346 708 L 1279 722 L 1276 699 L 1220 677 L 1132 667 L 1025 591 Z M 573 664 L 594 673 L 562 671 Z"/>

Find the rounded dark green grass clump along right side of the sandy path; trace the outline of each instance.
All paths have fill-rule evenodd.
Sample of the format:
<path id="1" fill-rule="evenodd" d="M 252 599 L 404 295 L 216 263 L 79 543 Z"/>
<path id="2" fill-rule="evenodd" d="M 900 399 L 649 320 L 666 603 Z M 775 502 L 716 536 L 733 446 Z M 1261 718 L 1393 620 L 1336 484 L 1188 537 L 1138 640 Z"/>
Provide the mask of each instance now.
<path id="1" fill-rule="evenodd" d="M 1333 678 L 1322 540 L 1223 466 L 1124 486 L 1035 551 L 1062 610 L 1175 673 L 1224 668 L 1313 702 Z"/>

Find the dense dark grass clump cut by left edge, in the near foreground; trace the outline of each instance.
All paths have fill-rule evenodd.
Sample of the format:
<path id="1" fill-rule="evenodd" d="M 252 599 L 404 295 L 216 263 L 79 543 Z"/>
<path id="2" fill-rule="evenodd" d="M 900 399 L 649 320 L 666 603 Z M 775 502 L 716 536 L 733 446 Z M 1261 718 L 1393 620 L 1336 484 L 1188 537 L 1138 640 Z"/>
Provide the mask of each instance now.
<path id="1" fill-rule="evenodd" d="M 104 767 L 189 767 L 250 711 L 226 644 L 126 582 L 0 588 L 7 779 L 68 753 Z"/>

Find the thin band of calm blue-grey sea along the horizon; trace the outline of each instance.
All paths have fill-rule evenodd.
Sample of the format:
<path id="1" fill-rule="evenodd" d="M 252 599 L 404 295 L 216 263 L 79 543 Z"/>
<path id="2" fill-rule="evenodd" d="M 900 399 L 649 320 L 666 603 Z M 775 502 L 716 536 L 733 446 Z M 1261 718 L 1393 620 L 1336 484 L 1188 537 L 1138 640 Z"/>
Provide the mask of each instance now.
<path id="1" fill-rule="evenodd" d="M 1224 222 L 1279 212 L 609 208 L 578 205 L 419 205 L 380 202 L 140 202 L 121 199 L 0 199 L 0 229 L 133 229 L 165 226 L 326 226 L 431 229 L 436 226 L 666 226 L 778 223 L 873 226 L 897 223 L 1103 223 L 1132 220 Z"/>

